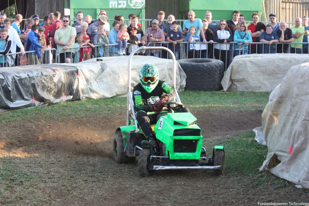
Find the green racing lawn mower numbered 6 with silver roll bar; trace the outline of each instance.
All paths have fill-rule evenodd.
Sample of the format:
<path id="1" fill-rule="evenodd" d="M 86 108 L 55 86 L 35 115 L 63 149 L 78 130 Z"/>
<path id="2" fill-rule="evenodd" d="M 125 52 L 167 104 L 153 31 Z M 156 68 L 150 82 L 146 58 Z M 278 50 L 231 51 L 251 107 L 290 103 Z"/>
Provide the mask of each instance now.
<path id="1" fill-rule="evenodd" d="M 113 150 L 118 163 L 134 163 L 138 157 L 138 172 L 147 177 L 153 170 L 214 170 L 215 175 L 223 173 L 224 148 L 214 146 L 212 157 L 206 156 L 202 146 L 201 128 L 190 112 L 175 112 L 184 107 L 176 91 L 176 101 L 165 102 L 165 111 L 157 117 L 157 123 L 151 125 L 156 137 L 157 147 L 143 145 L 145 135 L 138 126 L 131 91 L 131 61 L 133 55 L 146 49 L 162 49 L 171 54 L 173 60 L 173 86 L 176 91 L 176 59 L 165 47 L 139 47 L 129 56 L 127 126 L 116 130 Z M 141 65 L 142 66 L 142 65 Z M 165 112 L 165 113 L 164 113 Z"/>

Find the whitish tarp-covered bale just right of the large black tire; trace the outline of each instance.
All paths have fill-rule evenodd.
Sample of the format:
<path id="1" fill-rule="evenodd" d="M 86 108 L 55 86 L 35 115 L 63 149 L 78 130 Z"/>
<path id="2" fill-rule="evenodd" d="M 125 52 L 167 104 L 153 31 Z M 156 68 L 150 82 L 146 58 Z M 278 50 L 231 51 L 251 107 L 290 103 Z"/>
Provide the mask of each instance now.
<path id="1" fill-rule="evenodd" d="M 236 56 L 221 84 L 223 90 L 271 91 L 291 66 L 308 62 L 308 54 L 248 54 Z"/>

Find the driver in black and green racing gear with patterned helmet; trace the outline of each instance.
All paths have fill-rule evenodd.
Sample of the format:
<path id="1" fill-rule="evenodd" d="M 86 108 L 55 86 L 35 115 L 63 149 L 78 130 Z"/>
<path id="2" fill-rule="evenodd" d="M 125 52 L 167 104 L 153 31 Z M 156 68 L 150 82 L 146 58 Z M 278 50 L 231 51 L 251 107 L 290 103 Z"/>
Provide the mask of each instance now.
<path id="1" fill-rule="evenodd" d="M 164 102 L 173 99 L 176 92 L 167 82 L 159 80 L 159 70 L 153 64 L 145 64 L 139 72 L 140 83 L 134 86 L 133 102 L 137 112 L 136 119 L 147 141 L 156 145 L 150 124 L 157 122 L 157 116 L 163 111 Z M 180 112 L 190 112 L 184 107 Z"/>

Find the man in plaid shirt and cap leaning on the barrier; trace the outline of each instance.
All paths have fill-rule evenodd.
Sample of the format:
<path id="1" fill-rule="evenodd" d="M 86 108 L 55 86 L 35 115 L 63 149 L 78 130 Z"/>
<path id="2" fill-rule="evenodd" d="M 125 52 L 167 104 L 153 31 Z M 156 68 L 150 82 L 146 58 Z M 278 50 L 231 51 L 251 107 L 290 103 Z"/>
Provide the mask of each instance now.
<path id="1" fill-rule="evenodd" d="M 164 33 L 159 28 L 159 21 L 157 19 L 152 20 L 150 28 L 146 29 L 145 35 L 142 38 L 141 44 L 145 44 L 146 39 L 147 43 L 149 42 L 162 42 L 164 41 Z M 160 44 L 149 44 L 149 46 L 161 46 Z M 160 56 L 160 50 L 150 50 L 150 55 L 159 57 Z"/>

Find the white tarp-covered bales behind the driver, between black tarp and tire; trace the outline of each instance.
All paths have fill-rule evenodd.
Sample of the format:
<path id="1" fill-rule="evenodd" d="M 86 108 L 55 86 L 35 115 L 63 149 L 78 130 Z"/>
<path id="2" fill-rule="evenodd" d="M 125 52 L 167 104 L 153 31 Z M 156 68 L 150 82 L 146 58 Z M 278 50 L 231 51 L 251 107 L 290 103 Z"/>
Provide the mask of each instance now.
<path id="1" fill-rule="evenodd" d="M 78 64 L 78 78 L 83 98 L 108 98 L 127 94 L 129 56 L 102 57 L 103 61 L 90 59 Z M 159 79 L 173 85 L 173 61 L 150 56 L 132 58 L 131 87 L 139 83 L 139 70 L 144 64 L 154 64 L 159 69 Z M 176 62 L 176 89 L 184 90 L 186 75 Z"/>

